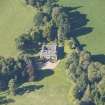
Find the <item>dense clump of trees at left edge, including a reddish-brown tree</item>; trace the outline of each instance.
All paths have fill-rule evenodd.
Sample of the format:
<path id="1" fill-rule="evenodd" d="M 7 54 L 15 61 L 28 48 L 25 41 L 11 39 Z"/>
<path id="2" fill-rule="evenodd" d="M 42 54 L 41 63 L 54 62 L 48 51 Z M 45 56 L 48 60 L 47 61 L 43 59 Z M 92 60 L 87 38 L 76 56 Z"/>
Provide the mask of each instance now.
<path id="1" fill-rule="evenodd" d="M 0 90 L 9 89 L 15 94 L 16 84 L 34 81 L 35 68 L 28 56 L 17 59 L 0 57 Z"/>

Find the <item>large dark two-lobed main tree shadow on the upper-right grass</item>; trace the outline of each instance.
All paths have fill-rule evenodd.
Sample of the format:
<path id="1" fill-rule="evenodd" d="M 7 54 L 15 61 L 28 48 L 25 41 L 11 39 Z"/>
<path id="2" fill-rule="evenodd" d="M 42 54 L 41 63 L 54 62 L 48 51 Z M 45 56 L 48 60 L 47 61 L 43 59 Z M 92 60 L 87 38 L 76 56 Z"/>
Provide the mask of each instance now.
<path id="1" fill-rule="evenodd" d="M 70 19 L 70 35 L 77 37 L 86 35 L 93 31 L 92 27 L 87 27 L 87 23 L 90 21 L 87 19 L 86 14 L 82 14 L 79 11 L 73 11 L 69 13 Z"/>

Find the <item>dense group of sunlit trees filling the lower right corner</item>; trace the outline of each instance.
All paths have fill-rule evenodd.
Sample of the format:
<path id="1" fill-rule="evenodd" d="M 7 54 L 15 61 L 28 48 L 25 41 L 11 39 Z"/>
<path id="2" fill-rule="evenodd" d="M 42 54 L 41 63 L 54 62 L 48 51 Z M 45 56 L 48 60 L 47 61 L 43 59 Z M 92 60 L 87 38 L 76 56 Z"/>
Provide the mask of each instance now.
<path id="1" fill-rule="evenodd" d="M 76 105 L 105 104 L 105 65 L 94 62 L 88 51 L 73 51 L 66 58 L 66 69 L 70 79 L 76 84 L 73 96 Z"/>

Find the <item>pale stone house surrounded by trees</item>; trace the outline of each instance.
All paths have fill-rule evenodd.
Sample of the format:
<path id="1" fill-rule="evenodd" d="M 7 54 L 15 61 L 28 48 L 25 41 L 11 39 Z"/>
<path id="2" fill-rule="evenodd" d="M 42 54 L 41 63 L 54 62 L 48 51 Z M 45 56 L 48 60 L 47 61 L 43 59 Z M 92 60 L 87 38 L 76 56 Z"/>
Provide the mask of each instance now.
<path id="1" fill-rule="evenodd" d="M 40 52 L 40 58 L 51 62 L 57 61 L 59 59 L 58 45 L 56 43 L 44 44 Z"/>

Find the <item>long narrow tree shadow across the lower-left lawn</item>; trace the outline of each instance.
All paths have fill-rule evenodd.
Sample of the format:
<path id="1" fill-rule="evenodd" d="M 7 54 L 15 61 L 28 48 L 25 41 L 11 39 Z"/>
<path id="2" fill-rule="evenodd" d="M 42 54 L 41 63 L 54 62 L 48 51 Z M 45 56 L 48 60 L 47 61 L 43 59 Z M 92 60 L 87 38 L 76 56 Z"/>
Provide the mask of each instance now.
<path id="1" fill-rule="evenodd" d="M 22 86 L 21 88 L 18 88 L 16 90 L 16 94 L 17 95 L 23 95 L 25 93 L 30 93 L 32 91 L 35 91 L 35 90 L 39 90 L 41 88 L 43 88 L 44 85 L 29 85 L 29 86 Z"/>

